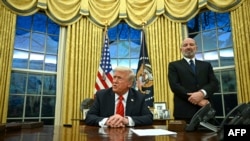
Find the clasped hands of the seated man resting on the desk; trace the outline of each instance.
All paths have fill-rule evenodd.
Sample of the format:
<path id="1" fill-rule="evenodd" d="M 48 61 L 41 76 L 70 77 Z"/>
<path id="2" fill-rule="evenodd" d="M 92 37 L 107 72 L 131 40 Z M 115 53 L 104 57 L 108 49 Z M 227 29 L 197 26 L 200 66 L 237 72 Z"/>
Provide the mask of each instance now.
<path id="1" fill-rule="evenodd" d="M 119 114 L 115 114 L 108 118 L 106 125 L 109 127 L 125 127 L 128 124 L 128 119 Z"/>

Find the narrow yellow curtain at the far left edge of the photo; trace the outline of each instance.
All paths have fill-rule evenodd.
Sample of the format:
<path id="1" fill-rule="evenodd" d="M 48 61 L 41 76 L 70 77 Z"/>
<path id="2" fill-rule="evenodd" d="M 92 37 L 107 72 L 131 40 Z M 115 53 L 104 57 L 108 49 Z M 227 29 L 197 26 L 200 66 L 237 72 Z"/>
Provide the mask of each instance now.
<path id="1" fill-rule="evenodd" d="M 0 4 L 0 123 L 6 123 L 16 15 Z"/>

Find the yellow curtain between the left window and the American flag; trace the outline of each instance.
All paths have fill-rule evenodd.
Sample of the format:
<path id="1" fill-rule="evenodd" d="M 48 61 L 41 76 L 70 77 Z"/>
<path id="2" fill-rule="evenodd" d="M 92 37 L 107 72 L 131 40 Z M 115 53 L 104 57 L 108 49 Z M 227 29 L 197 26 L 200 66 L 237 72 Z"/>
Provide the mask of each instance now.
<path id="1" fill-rule="evenodd" d="M 80 104 L 93 98 L 103 30 L 87 18 L 68 26 L 64 68 L 62 124 L 81 117 Z"/>

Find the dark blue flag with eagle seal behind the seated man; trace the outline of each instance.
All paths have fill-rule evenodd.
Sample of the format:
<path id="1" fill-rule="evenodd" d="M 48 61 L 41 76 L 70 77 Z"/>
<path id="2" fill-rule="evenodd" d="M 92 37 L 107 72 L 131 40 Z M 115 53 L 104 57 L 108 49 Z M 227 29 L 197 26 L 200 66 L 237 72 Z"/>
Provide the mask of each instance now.
<path id="1" fill-rule="evenodd" d="M 145 33 L 141 32 L 141 51 L 136 72 L 136 82 L 138 91 L 146 95 L 146 103 L 149 107 L 154 104 L 153 74 L 148 58 L 148 51 L 145 41 Z"/>

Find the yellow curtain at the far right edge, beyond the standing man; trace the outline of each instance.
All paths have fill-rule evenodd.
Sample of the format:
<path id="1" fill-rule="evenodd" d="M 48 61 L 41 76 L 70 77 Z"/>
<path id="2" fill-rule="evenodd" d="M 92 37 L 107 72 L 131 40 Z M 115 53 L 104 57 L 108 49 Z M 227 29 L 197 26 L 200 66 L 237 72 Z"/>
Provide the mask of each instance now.
<path id="1" fill-rule="evenodd" d="M 238 101 L 250 102 L 250 1 L 231 12 Z"/>

